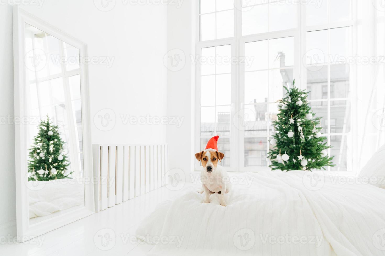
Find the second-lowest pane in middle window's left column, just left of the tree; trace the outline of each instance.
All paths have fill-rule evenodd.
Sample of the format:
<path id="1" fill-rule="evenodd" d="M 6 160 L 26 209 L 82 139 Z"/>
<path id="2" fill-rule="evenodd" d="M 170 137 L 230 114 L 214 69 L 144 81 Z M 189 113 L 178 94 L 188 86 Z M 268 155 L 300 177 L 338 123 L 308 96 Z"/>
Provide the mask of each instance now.
<path id="1" fill-rule="evenodd" d="M 241 126 L 244 127 L 245 136 L 267 136 L 267 108 L 267 104 L 253 104 L 244 106 L 244 120 Z"/>

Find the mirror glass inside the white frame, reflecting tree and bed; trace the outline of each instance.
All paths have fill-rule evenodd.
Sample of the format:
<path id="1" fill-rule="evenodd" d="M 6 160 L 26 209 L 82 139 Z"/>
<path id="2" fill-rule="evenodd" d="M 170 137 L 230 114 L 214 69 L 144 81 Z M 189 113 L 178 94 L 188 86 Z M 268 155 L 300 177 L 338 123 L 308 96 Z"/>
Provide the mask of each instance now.
<path id="1" fill-rule="evenodd" d="M 84 206 L 79 49 L 25 23 L 30 225 Z"/>

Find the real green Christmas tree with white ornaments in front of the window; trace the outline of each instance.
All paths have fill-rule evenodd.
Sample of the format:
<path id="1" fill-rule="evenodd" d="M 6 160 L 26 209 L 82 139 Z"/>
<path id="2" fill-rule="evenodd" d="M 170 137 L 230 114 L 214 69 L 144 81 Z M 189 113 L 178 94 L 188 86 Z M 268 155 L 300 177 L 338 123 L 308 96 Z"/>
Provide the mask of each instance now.
<path id="1" fill-rule="evenodd" d="M 279 100 L 280 112 L 273 122 L 275 134 L 269 152 L 272 170 L 313 170 L 334 166 L 328 156 L 326 137 L 321 134 L 320 117 L 315 117 L 307 93 L 294 86 L 286 88 Z"/>

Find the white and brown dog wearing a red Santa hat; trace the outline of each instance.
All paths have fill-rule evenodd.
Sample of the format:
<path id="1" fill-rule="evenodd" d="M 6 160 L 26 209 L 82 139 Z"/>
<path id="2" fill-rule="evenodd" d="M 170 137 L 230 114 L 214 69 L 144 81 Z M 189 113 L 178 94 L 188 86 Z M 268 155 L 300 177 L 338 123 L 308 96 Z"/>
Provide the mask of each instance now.
<path id="1" fill-rule="evenodd" d="M 204 151 L 195 154 L 198 162 L 202 163 L 201 181 L 205 193 L 203 203 L 210 203 L 210 194 L 220 194 L 220 204 L 226 206 L 224 195 L 230 191 L 231 183 L 229 176 L 224 168 L 218 164 L 224 154 L 218 152 L 217 141 L 219 136 L 211 138 Z"/>

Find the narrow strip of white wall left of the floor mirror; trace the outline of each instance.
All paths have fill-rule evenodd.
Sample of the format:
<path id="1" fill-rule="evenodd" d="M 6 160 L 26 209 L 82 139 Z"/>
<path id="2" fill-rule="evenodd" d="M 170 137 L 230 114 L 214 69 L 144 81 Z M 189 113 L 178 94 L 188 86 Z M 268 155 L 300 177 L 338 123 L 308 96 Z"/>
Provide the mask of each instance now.
<path id="1" fill-rule="evenodd" d="M 16 232 L 15 128 L 5 118 L 13 116 L 12 8 L 0 6 L 0 236 Z"/>

